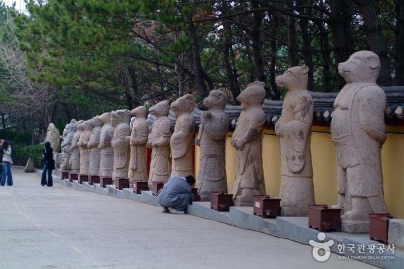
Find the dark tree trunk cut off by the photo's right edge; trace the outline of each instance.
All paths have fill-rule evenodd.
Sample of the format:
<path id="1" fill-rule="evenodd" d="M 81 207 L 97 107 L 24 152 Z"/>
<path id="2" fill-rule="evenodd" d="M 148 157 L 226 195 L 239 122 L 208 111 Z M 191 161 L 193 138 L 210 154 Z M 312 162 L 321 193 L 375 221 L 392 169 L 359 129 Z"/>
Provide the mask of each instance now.
<path id="1" fill-rule="evenodd" d="M 404 85 L 404 0 L 395 6 L 395 85 Z"/>

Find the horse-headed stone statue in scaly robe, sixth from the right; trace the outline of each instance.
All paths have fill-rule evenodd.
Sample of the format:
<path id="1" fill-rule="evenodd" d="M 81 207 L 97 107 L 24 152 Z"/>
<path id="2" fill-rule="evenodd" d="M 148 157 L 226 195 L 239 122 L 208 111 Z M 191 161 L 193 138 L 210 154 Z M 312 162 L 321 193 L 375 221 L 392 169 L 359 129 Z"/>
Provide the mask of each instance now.
<path id="1" fill-rule="evenodd" d="M 148 110 L 150 115 L 156 116 L 147 140 L 147 147 L 151 148 L 149 187 L 153 181 L 166 181 L 170 177 L 170 137 L 173 133 L 173 126 L 168 118 L 169 110 L 168 100 L 161 101 Z"/>

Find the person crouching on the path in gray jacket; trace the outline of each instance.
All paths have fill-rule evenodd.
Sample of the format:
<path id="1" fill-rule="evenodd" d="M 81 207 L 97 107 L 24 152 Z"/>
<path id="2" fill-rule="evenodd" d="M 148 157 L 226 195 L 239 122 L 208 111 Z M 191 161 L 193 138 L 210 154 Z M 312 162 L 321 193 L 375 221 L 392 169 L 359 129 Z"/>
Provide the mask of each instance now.
<path id="1" fill-rule="evenodd" d="M 195 178 L 192 176 L 170 177 L 157 194 L 157 202 L 163 207 L 162 212 L 183 214 L 188 203 L 194 200 L 191 191 L 194 185 Z"/>

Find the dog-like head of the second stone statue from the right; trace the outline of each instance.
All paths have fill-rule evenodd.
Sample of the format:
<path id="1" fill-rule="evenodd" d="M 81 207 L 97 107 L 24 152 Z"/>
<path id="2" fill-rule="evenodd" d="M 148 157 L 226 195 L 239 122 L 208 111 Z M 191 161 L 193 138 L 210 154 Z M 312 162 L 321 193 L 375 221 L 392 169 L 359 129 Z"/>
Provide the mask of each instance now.
<path id="1" fill-rule="evenodd" d="M 288 68 L 282 75 L 275 78 L 276 85 L 287 91 L 307 90 L 309 68 L 307 66 L 294 66 Z"/>

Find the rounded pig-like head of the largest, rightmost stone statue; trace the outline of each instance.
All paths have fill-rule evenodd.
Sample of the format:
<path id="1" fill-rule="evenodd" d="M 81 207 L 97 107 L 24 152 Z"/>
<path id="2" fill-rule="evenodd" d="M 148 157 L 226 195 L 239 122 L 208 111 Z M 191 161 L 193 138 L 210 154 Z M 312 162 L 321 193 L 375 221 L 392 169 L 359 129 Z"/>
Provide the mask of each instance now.
<path id="1" fill-rule="evenodd" d="M 352 54 L 346 62 L 339 63 L 338 73 L 347 83 L 376 83 L 380 73 L 380 59 L 372 51 L 361 50 Z"/>

